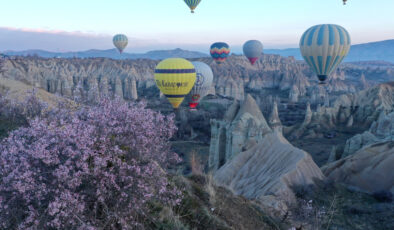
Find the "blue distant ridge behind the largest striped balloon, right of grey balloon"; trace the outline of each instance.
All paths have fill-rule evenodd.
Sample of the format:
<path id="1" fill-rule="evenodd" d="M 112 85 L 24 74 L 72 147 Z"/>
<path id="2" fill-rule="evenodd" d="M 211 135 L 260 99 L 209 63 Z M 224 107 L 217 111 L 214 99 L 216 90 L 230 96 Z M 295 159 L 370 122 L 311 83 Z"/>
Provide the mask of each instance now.
<path id="1" fill-rule="evenodd" d="M 281 56 L 294 56 L 302 60 L 300 49 L 267 49 L 266 54 L 279 54 Z M 359 45 L 352 45 L 345 62 L 360 61 L 388 61 L 394 63 L 394 39 L 380 42 L 370 42 Z"/>

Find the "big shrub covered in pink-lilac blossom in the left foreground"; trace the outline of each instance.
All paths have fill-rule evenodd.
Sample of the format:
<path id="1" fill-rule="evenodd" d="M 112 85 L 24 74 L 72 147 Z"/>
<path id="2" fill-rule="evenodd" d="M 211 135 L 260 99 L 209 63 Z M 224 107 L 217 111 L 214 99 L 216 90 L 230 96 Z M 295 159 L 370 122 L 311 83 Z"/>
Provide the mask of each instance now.
<path id="1" fill-rule="evenodd" d="M 0 228 L 142 228 L 149 202 L 180 202 L 173 117 L 119 99 L 50 114 L 0 143 Z"/>

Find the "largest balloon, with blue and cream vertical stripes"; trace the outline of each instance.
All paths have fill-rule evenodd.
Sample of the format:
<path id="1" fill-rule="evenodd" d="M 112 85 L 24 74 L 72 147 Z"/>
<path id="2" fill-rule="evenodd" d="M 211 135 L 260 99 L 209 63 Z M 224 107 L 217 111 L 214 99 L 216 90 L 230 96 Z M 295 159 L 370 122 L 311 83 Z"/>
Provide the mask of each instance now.
<path id="1" fill-rule="evenodd" d="M 349 33 L 332 24 L 316 25 L 309 28 L 300 40 L 301 54 L 315 71 L 320 84 L 338 67 L 350 50 Z"/>

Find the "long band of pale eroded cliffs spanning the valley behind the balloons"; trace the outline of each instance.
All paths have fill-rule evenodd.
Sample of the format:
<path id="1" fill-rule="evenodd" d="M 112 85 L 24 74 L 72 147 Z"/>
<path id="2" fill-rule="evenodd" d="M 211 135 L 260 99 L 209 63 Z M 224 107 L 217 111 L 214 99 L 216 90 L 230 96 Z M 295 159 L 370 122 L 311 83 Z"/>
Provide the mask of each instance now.
<path id="1" fill-rule="evenodd" d="M 242 100 L 247 91 L 255 97 L 265 97 L 262 91 L 275 90 L 292 102 L 315 104 L 324 95 L 332 100 L 338 94 L 367 88 L 374 81 L 394 78 L 394 71 L 390 68 L 345 64 L 332 74 L 329 84 L 322 90 L 317 89 L 311 69 L 291 57 L 262 55 L 253 66 L 245 57 L 236 55 L 230 56 L 222 65 L 210 58 L 193 60 L 212 67 L 215 76 L 212 93 L 237 100 Z M 158 92 L 146 90 L 155 85 L 153 73 L 158 61 L 154 60 L 19 57 L 2 62 L 0 77 L 23 81 L 63 96 L 87 96 L 91 94 L 89 91 L 97 88 L 99 92 L 116 94 L 124 99 L 146 95 L 158 97 Z"/>

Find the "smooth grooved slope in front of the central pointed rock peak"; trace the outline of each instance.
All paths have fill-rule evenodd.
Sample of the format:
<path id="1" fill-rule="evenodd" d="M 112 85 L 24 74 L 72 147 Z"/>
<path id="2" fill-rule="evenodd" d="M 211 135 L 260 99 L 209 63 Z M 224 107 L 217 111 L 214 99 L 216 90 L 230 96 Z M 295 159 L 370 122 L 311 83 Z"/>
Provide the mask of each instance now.
<path id="1" fill-rule="evenodd" d="M 264 135 L 214 175 L 217 183 L 246 198 L 264 200 L 274 195 L 289 202 L 294 201 L 294 186 L 311 185 L 323 178 L 311 156 L 292 146 L 278 131 Z"/>

